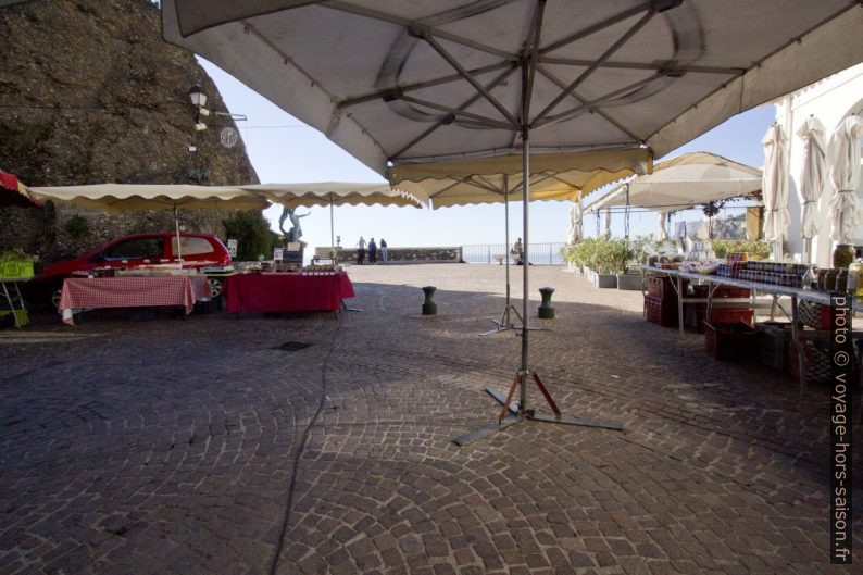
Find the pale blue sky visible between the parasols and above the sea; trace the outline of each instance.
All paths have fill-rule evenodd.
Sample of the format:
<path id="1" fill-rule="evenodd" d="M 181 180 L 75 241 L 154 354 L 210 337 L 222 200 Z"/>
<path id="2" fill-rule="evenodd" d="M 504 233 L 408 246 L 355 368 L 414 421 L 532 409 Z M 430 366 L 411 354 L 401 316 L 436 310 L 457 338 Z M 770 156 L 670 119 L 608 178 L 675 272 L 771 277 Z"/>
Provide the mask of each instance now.
<path id="1" fill-rule="evenodd" d="M 242 114 L 245 122 L 237 128 L 246 145 L 249 159 L 262 184 L 313 183 L 313 182 L 384 182 L 374 171 L 363 165 L 348 152 L 327 140 L 316 129 L 299 120 L 242 85 L 214 64 L 199 59 L 215 83 L 228 110 Z M 711 132 L 692 140 L 667 155 L 674 158 L 692 151 L 713 152 L 755 167 L 764 164 L 761 140 L 775 120 L 773 105 L 755 108 L 731 117 Z M 600 189 L 599 195 L 604 189 Z M 586 203 L 595 196 L 588 196 Z M 530 243 L 564 242 L 568 229 L 570 203 L 531 202 L 529 207 Z M 311 253 L 314 247 L 329 246 L 329 208 L 299 209 L 309 215 L 301 221 L 302 240 Z M 264 211 L 271 227 L 278 232 L 280 207 Z M 727 210 L 738 214 L 740 210 Z M 722 214 L 721 214 L 722 215 Z M 510 202 L 510 242 L 522 236 L 522 204 Z M 622 214 L 612 216 L 612 235 L 623 237 Z M 700 220 L 699 210 L 689 210 L 675 215 L 674 221 Z M 633 213 L 629 220 L 631 236 L 653 234 L 656 214 Z M 390 247 L 445 247 L 477 243 L 504 242 L 504 207 L 502 203 L 485 205 L 460 205 L 439 210 L 395 207 L 341 207 L 334 209 L 335 234 L 341 237 L 341 246 L 353 247 L 363 236 L 366 240 L 382 237 Z M 586 218 L 584 230 L 596 235 L 596 220 Z"/>

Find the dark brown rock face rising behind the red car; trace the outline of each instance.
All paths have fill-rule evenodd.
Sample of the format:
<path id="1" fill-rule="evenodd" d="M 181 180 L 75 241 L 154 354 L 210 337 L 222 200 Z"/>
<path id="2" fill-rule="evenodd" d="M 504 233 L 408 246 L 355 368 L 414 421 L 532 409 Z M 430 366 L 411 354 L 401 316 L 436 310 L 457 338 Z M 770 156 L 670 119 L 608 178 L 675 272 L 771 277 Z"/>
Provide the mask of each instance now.
<path id="1" fill-rule="evenodd" d="M 209 128 L 196 132 L 193 85 L 208 95 L 208 109 L 227 109 L 195 57 L 162 40 L 153 3 L 13 4 L 0 8 L 0 167 L 26 185 L 258 183 L 228 116 L 211 113 Z M 188 232 L 223 237 L 228 214 L 186 211 L 180 220 Z M 124 234 L 173 228 L 167 210 L 10 208 L 0 210 L 0 251 L 51 260 Z"/>

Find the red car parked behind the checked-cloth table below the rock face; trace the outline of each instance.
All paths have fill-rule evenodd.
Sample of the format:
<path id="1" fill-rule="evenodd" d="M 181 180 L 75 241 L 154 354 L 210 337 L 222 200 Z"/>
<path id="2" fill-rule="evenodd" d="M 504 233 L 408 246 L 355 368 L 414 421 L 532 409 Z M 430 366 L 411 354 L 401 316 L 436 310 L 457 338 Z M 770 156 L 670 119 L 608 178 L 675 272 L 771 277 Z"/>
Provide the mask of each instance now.
<path id="1" fill-rule="evenodd" d="M 183 267 L 198 270 L 203 273 L 220 274 L 230 272 L 230 253 L 215 236 L 204 234 L 180 234 Z M 79 255 L 74 260 L 65 260 L 49 264 L 33 278 L 32 287 L 36 297 L 42 301 L 50 298 L 55 307 L 60 303 L 60 291 L 63 279 L 73 272 L 86 272 L 96 267 L 139 267 L 176 263 L 177 236 L 171 233 L 135 234 L 124 236 L 105 243 L 101 248 Z M 210 289 L 213 297 L 222 295 L 222 279 L 210 276 Z"/>

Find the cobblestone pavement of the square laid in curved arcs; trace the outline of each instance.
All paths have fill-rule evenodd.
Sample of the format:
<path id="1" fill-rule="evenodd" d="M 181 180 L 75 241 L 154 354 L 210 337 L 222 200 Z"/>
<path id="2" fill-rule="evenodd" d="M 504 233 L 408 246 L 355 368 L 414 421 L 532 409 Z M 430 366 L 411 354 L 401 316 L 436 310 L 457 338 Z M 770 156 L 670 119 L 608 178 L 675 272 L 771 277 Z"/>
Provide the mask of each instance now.
<path id="1" fill-rule="evenodd" d="M 0 574 L 852 573 L 827 553 L 829 390 L 714 361 L 638 292 L 530 267 L 530 367 L 624 432 L 452 443 L 520 364 L 512 332 L 477 336 L 503 270 L 352 266 L 362 313 L 0 333 Z"/>

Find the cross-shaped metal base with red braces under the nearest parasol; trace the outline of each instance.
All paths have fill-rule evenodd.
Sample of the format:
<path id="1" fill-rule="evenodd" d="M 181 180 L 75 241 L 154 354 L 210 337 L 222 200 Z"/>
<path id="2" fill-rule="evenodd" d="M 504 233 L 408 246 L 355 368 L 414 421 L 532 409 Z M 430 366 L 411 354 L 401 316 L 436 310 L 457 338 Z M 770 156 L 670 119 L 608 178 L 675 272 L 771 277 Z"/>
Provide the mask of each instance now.
<path id="1" fill-rule="evenodd" d="M 503 405 L 503 409 L 498 417 L 498 421 L 495 423 L 486 424 L 481 427 L 478 427 L 472 432 L 468 432 L 464 435 L 460 435 L 455 439 L 452 440 L 453 443 L 456 446 L 466 446 L 467 443 L 472 443 L 477 439 L 483 439 L 496 432 L 500 432 L 501 429 L 505 429 L 510 425 L 516 424 L 518 422 L 523 422 L 525 420 L 533 420 L 535 422 L 545 422 L 545 423 L 561 423 L 566 425 L 580 425 L 583 427 L 598 427 L 600 429 L 613 429 L 616 432 L 623 430 L 623 425 L 615 422 L 603 422 L 603 421 L 595 421 L 595 420 L 583 420 L 580 417 L 571 417 L 568 415 L 563 415 L 558 409 L 558 404 L 554 403 L 551 395 L 549 393 L 546 386 L 542 384 L 542 380 L 539 378 L 537 374 L 531 374 L 534 377 L 534 382 L 536 383 L 539 390 L 542 392 L 542 396 L 546 398 L 549 407 L 551 407 L 552 411 L 554 412 L 553 415 L 549 415 L 547 413 L 536 412 L 529 409 L 521 409 L 518 401 L 513 401 L 513 395 L 515 393 L 515 388 L 521 385 L 521 377 L 520 374 L 515 375 L 515 379 L 510 387 L 510 392 L 508 396 L 504 396 L 499 390 L 495 389 L 493 387 L 487 387 L 486 392 L 490 395 L 492 398 L 498 400 Z M 525 377 L 526 379 L 526 377 Z"/>

